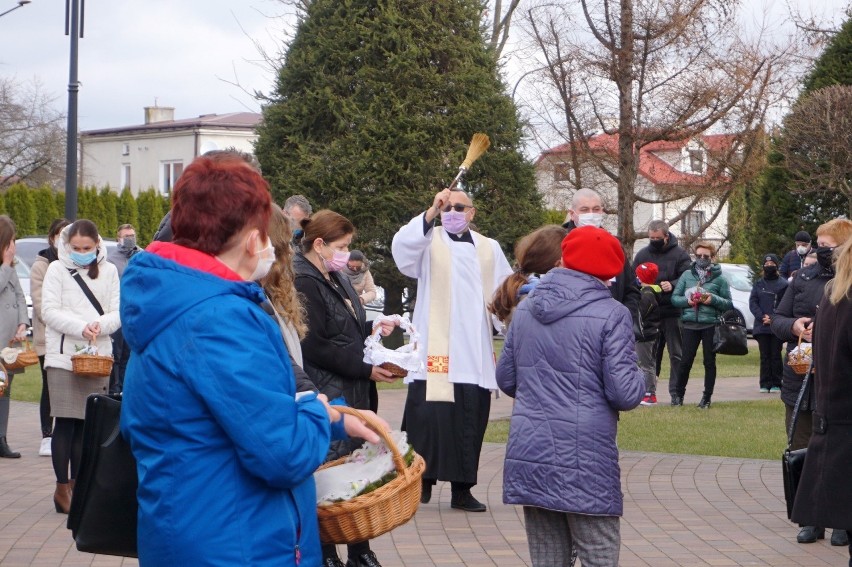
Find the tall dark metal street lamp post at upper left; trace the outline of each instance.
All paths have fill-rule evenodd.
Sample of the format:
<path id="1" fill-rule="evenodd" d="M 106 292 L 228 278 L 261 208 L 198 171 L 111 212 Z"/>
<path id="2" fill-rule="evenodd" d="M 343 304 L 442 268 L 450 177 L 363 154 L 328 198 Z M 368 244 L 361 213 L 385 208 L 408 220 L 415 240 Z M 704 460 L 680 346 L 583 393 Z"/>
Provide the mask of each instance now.
<path id="1" fill-rule="evenodd" d="M 68 71 L 68 143 L 65 146 L 65 218 L 70 221 L 77 220 L 77 93 L 80 91 L 77 63 L 80 38 L 83 37 L 81 2 L 82 0 L 65 2 L 65 35 L 71 36 L 71 62 Z"/>

